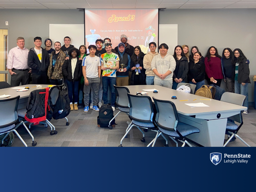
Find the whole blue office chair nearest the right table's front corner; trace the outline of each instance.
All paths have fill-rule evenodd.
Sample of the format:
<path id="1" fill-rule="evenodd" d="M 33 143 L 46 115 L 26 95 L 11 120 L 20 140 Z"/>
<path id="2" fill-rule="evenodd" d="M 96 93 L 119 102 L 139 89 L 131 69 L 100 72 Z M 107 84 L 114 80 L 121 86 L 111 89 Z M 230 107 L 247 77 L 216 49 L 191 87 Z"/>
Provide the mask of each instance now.
<path id="1" fill-rule="evenodd" d="M 199 129 L 188 124 L 179 122 L 179 115 L 175 104 L 172 101 L 158 100 L 153 97 L 156 106 L 156 122 L 160 133 L 168 135 L 178 147 L 178 141 L 182 142 L 184 147 L 186 143 L 189 147 L 192 147 L 190 143 L 186 140 L 186 136 L 199 133 Z M 156 138 L 157 139 L 157 138 Z"/>

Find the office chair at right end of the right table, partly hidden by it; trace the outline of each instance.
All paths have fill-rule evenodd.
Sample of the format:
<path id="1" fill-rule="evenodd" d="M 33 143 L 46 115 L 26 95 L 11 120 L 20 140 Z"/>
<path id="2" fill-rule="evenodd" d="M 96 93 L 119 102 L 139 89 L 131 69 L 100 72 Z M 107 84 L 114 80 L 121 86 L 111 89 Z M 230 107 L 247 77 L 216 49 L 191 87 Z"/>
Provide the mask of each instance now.
<path id="1" fill-rule="evenodd" d="M 235 105 L 244 105 L 244 101 L 245 101 L 246 96 L 241 95 L 241 94 L 237 94 L 237 93 L 230 93 L 230 92 L 225 92 L 222 94 L 220 101 L 224 101 L 227 103 L 232 103 Z M 238 123 L 240 123 L 240 125 L 237 125 L 231 121 L 227 121 L 227 126 L 226 126 L 226 134 L 231 135 L 229 137 L 229 139 L 226 141 L 226 143 L 224 143 L 223 147 L 225 147 L 228 142 L 234 137 L 236 136 L 238 139 L 240 139 L 245 145 L 247 145 L 248 147 L 251 147 L 250 145 L 248 145 L 241 137 L 239 137 L 237 135 L 237 132 L 239 131 L 239 129 L 242 127 L 242 125 L 244 124 L 243 122 L 243 116 L 242 116 L 242 111 L 240 111 L 239 114 L 228 117 L 229 120 L 232 121 L 236 121 Z"/>

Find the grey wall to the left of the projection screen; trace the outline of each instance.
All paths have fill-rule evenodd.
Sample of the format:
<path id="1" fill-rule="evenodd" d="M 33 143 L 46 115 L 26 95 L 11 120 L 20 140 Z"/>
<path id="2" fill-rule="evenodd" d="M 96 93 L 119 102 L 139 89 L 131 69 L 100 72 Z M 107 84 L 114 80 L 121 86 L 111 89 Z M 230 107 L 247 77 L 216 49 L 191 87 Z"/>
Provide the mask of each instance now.
<path id="1" fill-rule="evenodd" d="M 24 37 L 28 49 L 35 46 L 34 37 L 40 36 L 44 48 L 44 40 L 49 38 L 49 24 L 84 24 L 84 12 L 77 9 L 1 9 L 0 28 L 5 26 L 5 21 L 10 27 L 10 49 L 17 46 L 19 36 Z M 64 41 L 60 43 L 63 45 Z M 81 44 L 84 44 L 84 39 Z"/>

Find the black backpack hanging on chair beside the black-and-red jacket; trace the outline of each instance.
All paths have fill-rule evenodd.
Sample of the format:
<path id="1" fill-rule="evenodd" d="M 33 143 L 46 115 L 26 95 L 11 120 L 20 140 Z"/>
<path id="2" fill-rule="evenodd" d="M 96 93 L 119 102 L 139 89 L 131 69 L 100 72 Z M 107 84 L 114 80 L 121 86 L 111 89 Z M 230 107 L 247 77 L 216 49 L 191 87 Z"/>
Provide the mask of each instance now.
<path id="1" fill-rule="evenodd" d="M 55 105 L 52 104 L 52 99 L 50 97 L 51 95 L 51 89 L 49 93 L 49 100 L 50 100 L 50 106 L 53 110 L 52 118 L 57 120 L 57 119 L 62 119 L 68 116 L 70 113 L 70 101 L 68 98 L 68 93 L 66 91 L 61 91 L 60 87 L 56 85 L 56 88 L 53 89 L 58 89 L 59 90 L 59 96 L 58 99 L 56 100 Z M 62 111 L 62 113 L 59 113 L 59 111 Z"/>

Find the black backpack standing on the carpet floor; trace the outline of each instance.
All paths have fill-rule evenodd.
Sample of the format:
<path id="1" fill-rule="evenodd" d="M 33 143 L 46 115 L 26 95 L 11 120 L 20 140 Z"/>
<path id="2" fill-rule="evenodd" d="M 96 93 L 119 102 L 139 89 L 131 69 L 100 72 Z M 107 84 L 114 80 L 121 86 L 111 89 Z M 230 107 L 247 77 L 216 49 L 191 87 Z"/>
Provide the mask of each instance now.
<path id="1" fill-rule="evenodd" d="M 112 107 L 110 105 L 102 105 L 97 118 L 98 127 L 108 127 L 108 124 L 113 117 L 114 112 Z M 112 127 L 115 127 L 115 119 L 110 123 L 110 125 L 111 129 Z"/>

